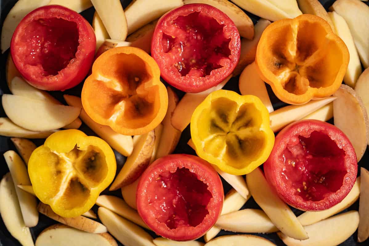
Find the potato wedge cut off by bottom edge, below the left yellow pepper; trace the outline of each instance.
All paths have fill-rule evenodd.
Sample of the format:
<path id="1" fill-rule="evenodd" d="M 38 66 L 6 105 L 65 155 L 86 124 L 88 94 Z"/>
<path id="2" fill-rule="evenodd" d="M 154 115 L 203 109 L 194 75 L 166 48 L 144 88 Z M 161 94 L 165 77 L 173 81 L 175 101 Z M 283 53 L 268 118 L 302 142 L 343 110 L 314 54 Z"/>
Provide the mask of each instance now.
<path id="1" fill-rule="evenodd" d="M 109 233 L 88 233 L 63 224 L 49 226 L 38 235 L 36 246 L 117 246 Z"/>

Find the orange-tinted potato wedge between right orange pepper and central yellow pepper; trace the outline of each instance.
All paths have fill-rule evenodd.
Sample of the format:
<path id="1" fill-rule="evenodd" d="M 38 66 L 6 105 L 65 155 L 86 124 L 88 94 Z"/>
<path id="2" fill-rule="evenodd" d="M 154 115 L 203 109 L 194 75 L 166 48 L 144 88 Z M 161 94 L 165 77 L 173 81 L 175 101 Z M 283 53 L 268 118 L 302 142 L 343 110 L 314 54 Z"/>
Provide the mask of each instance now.
<path id="1" fill-rule="evenodd" d="M 244 71 L 242 71 L 239 76 L 238 87 L 241 95 L 257 96 L 268 109 L 269 113 L 274 111 L 268 91 L 266 91 L 265 82 L 259 76 L 255 61 L 247 65 Z"/>

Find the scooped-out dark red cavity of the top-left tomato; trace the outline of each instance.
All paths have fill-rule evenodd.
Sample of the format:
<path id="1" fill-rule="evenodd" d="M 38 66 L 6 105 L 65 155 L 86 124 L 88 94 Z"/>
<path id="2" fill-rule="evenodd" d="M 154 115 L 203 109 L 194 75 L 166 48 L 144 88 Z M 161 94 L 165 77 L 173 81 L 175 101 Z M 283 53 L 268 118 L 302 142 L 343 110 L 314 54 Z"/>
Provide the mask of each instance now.
<path id="1" fill-rule="evenodd" d="M 59 18 L 41 18 L 25 28 L 19 45 L 20 55 L 31 66 L 41 64 L 42 75 L 56 75 L 76 57 L 78 29 L 75 22 Z"/>

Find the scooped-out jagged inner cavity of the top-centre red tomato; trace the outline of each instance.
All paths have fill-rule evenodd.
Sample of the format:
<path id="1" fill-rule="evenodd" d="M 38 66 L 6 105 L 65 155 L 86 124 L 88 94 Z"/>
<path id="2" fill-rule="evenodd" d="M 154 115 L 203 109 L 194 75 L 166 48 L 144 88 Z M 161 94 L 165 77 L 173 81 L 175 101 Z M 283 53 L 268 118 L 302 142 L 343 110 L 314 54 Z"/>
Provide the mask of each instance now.
<path id="1" fill-rule="evenodd" d="M 171 24 L 176 33 L 186 38 L 179 41 L 168 29 L 167 33 L 163 33 L 161 44 L 163 51 L 174 57 L 173 67 L 181 76 L 206 77 L 213 70 L 223 67 L 219 64 L 221 59 L 230 59 L 231 39 L 224 36 L 224 25 L 214 18 L 194 11 L 177 17 Z"/>

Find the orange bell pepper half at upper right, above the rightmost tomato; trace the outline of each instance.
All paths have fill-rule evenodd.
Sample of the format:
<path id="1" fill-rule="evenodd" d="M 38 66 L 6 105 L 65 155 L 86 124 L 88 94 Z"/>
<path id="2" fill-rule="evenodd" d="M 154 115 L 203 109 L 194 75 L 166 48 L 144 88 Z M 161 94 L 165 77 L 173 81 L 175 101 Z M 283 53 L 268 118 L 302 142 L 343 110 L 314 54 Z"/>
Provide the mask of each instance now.
<path id="1" fill-rule="evenodd" d="M 283 102 L 303 104 L 332 95 L 342 83 L 349 52 L 327 21 L 303 14 L 270 24 L 256 50 L 261 78 Z"/>

